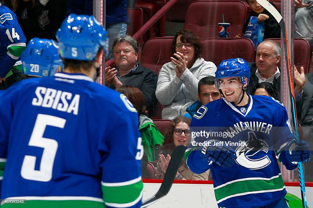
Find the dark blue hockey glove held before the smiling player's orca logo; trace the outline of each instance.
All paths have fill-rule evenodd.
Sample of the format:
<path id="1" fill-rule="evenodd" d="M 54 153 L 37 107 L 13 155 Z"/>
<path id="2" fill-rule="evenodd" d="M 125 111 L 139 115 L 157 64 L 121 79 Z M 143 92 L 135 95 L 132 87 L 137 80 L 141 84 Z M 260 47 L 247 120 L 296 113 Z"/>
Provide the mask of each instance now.
<path id="1" fill-rule="evenodd" d="M 235 164 L 237 156 L 236 152 L 224 143 L 218 140 L 209 140 L 209 146 L 203 146 L 200 153 L 203 161 L 214 162 L 224 168 L 229 168 Z M 214 144 L 222 144 L 222 146 L 214 146 Z M 210 145 L 211 144 L 211 145 Z"/>

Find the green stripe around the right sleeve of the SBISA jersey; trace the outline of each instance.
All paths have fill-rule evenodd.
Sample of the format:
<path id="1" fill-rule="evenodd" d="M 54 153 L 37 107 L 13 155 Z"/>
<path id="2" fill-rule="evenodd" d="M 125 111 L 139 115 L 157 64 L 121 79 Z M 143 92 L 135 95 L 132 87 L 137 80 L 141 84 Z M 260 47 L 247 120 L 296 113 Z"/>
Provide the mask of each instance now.
<path id="1" fill-rule="evenodd" d="M 140 180 L 134 184 L 125 186 L 101 186 L 105 203 L 125 204 L 138 199 L 143 188 L 143 183 Z"/>

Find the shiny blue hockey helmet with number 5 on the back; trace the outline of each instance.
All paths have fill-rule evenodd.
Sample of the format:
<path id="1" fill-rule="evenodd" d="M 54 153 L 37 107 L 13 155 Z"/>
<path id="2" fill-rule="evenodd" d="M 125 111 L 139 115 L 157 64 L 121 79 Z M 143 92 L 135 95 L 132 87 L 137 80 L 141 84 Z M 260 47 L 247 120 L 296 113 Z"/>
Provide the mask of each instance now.
<path id="1" fill-rule="evenodd" d="M 56 33 L 60 56 L 65 59 L 92 61 L 100 47 L 106 50 L 107 34 L 101 24 L 87 15 L 70 14 Z"/>

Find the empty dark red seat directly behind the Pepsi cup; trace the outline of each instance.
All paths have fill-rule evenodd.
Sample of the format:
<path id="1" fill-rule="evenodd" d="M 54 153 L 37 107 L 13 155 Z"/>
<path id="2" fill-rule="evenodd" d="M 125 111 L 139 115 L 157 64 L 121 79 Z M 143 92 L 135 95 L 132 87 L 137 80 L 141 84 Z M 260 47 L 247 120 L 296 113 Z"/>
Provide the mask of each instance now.
<path id="1" fill-rule="evenodd" d="M 246 21 L 247 5 L 237 0 L 201 0 L 190 4 L 184 29 L 193 31 L 201 40 L 218 38 L 218 23 L 230 23 L 229 37 L 242 34 Z"/>

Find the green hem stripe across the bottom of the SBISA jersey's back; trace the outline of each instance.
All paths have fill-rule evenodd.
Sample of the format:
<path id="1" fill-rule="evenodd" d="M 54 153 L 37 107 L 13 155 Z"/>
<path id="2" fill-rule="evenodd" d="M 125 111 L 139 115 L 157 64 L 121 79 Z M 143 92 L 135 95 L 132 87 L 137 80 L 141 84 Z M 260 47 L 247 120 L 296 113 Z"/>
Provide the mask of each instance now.
<path id="1" fill-rule="evenodd" d="M 23 197 L 21 197 L 23 200 Z M 105 208 L 103 202 L 88 200 L 24 200 L 24 203 L 5 203 L 1 208 Z"/>

